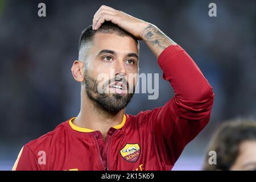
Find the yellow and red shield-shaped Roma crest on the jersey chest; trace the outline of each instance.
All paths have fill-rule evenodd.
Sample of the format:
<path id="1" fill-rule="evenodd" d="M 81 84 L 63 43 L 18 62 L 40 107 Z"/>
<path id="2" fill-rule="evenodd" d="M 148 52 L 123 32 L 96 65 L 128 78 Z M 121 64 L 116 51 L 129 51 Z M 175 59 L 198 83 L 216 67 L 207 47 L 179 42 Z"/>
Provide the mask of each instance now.
<path id="1" fill-rule="evenodd" d="M 141 147 L 138 143 L 126 143 L 125 147 L 120 150 L 120 154 L 127 162 L 135 163 L 141 154 Z"/>

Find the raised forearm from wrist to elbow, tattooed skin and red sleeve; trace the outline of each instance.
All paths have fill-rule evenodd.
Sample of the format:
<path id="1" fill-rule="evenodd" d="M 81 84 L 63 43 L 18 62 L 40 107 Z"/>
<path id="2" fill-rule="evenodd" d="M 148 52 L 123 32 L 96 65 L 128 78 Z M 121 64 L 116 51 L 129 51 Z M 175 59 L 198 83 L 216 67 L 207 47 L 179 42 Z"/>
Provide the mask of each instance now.
<path id="1" fill-rule="evenodd" d="M 153 24 L 146 23 L 144 27 L 141 38 L 158 58 L 164 78 L 170 81 L 176 96 L 187 101 L 200 101 L 212 97 L 209 82 L 184 49 L 177 46 Z M 163 52 L 164 50 L 166 51 Z"/>

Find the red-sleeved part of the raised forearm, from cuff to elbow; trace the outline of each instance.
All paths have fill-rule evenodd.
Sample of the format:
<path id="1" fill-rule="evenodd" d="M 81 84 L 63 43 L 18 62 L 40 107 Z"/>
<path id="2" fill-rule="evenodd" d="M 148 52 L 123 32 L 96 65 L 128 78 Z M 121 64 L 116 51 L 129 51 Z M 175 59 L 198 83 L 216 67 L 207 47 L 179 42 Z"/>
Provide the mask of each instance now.
<path id="1" fill-rule="evenodd" d="M 170 81 L 176 96 L 183 101 L 201 102 L 213 96 L 203 73 L 180 46 L 171 46 L 159 56 L 158 63 L 164 79 Z"/>

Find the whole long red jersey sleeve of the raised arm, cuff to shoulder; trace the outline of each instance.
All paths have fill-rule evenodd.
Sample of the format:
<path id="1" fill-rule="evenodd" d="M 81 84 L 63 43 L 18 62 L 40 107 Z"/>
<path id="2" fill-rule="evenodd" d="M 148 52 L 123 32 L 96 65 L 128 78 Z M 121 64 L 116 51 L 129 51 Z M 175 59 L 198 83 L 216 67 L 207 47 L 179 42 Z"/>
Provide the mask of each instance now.
<path id="1" fill-rule="evenodd" d="M 185 145 L 209 122 L 214 94 L 199 67 L 180 46 L 164 49 L 158 64 L 175 95 L 148 114 L 157 150 L 163 162 L 173 166 Z"/>

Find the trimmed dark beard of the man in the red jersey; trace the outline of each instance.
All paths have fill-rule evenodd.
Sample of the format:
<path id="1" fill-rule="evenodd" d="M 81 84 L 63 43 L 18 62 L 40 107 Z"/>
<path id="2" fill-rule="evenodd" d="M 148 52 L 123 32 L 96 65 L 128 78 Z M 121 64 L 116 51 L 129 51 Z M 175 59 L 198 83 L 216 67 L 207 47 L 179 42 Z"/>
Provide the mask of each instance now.
<path id="1" fill-rule="evenodd" d="M 110 80 L 108 82 L 110 83 Z M 99 93 L 97 86 L 98 81 L 90 77 L 88 73 L 85 73 L 85 90 L 88 98 L 93 102 L 98 111 L 104 111 L 108 114 L 117 114 L 120 110 L 125 109 L 134 94 L 134 92 L 123 95 L 118 93 Z M 128 82 L 127 88 L 129 88 Z"/>

